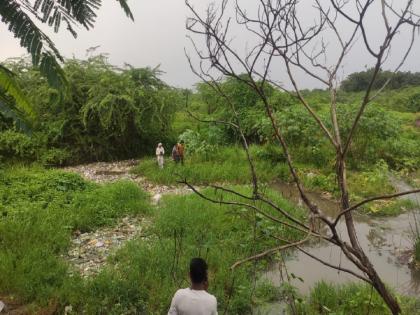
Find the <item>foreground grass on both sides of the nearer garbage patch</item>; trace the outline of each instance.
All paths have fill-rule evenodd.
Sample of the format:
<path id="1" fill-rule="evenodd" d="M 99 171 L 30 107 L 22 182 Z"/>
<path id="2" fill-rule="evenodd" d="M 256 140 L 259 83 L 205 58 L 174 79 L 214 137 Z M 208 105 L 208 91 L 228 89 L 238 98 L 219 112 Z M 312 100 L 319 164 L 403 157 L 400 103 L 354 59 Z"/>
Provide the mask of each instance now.
<path id="1" fill-rule="evenodd" d="M 262 266 L 230 267 L 272 245 L 273 235 L 300 236 L 251 209 L 209 204 L 194 194 L 165 197 L 155 212 L 148 196 L 130 182 L 96 185 L 42 168 L 15 167 L 0 176 L 0 292 L 15 303 L 32 305 L 28 309 L 33 312 L 51 307 L 60 312 L 72 305 L 76 313 L 161 314 L 176 289 L 187 285 L 190 257 L 203 256 L 220 308 L 250 313 L 266 301 L 256 283 Z M 203 193 L 241 201 L 228 193 Z M 303 216 L 303 210 L 267 194 L 290 214 Z M 71 272 L 65 255 L 72 233 L 112 225 L 126 215 L 146 216 L 153 224 L 113 255 L 98 276 L 83 279 Z"/>

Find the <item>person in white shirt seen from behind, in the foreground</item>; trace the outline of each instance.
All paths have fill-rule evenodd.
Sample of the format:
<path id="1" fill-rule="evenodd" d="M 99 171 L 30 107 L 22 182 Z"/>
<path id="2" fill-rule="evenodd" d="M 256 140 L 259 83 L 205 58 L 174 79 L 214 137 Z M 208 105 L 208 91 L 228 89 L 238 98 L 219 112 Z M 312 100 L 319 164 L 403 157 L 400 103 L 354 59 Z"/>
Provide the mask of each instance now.
<path id="1" fill-rule="evenodd" d="M 204 259 L 191 259 L 191 286 L 176 291 L 168 315 L 217 315 L 216 297 L 207 293 L 207 268 Z"/>

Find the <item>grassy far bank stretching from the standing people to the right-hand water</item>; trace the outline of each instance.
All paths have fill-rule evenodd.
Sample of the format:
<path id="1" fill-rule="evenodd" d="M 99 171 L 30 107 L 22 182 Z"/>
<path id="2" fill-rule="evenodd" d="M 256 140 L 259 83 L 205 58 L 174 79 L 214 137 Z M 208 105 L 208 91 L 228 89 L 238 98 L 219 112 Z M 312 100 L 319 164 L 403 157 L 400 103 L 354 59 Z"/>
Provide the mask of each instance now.
<path id="1" fill-rule="evenodd" d="M 282 160 L 282 153 L 273 146 L 251 146 L 250 148 L 260 182 L 290 182 L 290 172 Z M 339 196 L 336 176 L 332 166 L 315 167 L 296 164 L 298 173 L 306 189 L 315 192 L 329 192 L 333 198 Z M 249 164 L 245 152 L 240 147 L 215 147 L 214 151 L 188 155 L 185 165 L 175 164 L 167 158 L 163 170 L 157 167 L 155 159 L 140 161 L 133 173 L 145 176 L 156 184 L 176 185 L 187 179 L 191 184 L 251 183 Z M 380 161 L 369 170 L 349 170 L 348 185 L 350 198 L 356 203 L 364 198 L 392 194 L 395 188 L 388 178 L 389 169 Z M 361 211 L 373 216 L 393 216 L 413 209 L 415 205 L 407 200 L 376 201 L 362 207 Z"/>

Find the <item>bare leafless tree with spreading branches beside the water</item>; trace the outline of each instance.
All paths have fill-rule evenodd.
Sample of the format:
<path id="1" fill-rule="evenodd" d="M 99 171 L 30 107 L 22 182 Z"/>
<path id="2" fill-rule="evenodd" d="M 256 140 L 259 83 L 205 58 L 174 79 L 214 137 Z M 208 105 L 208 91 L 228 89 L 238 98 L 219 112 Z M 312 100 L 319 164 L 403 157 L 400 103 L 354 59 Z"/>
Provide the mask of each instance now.
<path id="1" fill-rule="evenodd" d="M 387 81 L 381 89 L 373 91 L 378 73 L 391 55 L 391 44 L 402 32 L 404 34 L 409 32 L 410 38 L 407 47 L 400 56 L 400 62 L 395 66 L 395 72 L 401 68 L 412 50 L 416 31 L 420 29 L 420 16 L 414 12 L 413 2 L 413 0 L 400 1 L 398 7 L 395 7 L 387 0 L 312 0 L 302 1 L 301 3 L 297 0 L 259 0 L 257 1 L 258 11 L 250 14 L 244 9 L 243 3 L 240 0 L 236 0 L 236 2 L 221 0 L 219 6 L 212 4 L 207 8 L 205 13 L 201 14 L 188 0 L 186 1 L 186 5 L 191 14 L 187 19 L 186 27 L 190 32 L 192 47 L 196 55 L 195 58 L 198 61 L 193 60 L 188 53 L 187 58 L 193 72 L 218 92 L 225 99 L 226 104 L 229 105 L 232 111 L 233 122 L 217 121 L 216 123 L 229 124 L 230 127 L 238 131 L 250 165 L 253 193 L 251 196 L 246 196 L 231 189 L 217 186 L 216 188 L 230 194 L 241 196 L 249 202 L 222 201 L 212 199 L 199 192 L 187 180 L 184 183 L 201 197 L 211 202 L 246 206 L 262 214 L 269 220 L 278 224 L 287 225 L 290 228 L 303 232 L 305 235 L 303 239 L 297 242 L 279 238 L 278 246 L 267 249 L 252 257 L 242 259 L 235 263 L 233 267 L 237 267 L 247 261 L 260 259 L 285 248 L 298 248 L 331 268 L 350 273 L 369 283 L 384 299 L 392 314 L 399 314 L 401 312 L 397 300 L 388 291 L 359 244 L 353 222 L 353 211 L 374 200 L 396 198 L 401 195 L 419 192 L 420 190 L 372 197 L 351 205 L 346 181 L 346 160 L 360 118 L 363 116 L 366 107 L 369 106 L 369 103 L 389 83 Z M 232 5 L 234 8 L 234 16 L 227 16 L 229 5 Z M 307 20 L 304 21 L 299 14 L 303 6 L 310 8 L 314 12 L 313 19 L 315 21 L 312 25 L 308 26 Z M 366 28 L 365 23 L 368 14 L 372 14 L 371 12 L 373 14 L 376 13 L 378 19 L 380 18 L 379 22 L 383 26 L 382 32 L 375 34 L 374 40 L 369 35 L 369 29 Z M 345 27 L 339 27 L 340 25 L 345 25 Z M 254 44 L 251 48 L 248 47 L 243 53 L 239 53 L 235 49 L 232 41 L 233 36 L 231 35 L 232 27 L 235 27 L 235 33 L 247 32 L 252 35 Z M 327 36 L 329 38 L 328 42 L 324 39 L 326 33 L 329 34 Z M 378 38 L 380 39 L 380 44 L 378 47 L 375 47 L 375 42 L 378 41 Z M 343 66 L 344 60 L 350 56 L 355 45 L 359 45 L 358 49 L 359 47 L 363 47 L 366 50 L 366 55 L 373 60 L 374 70 L 370 83 L 366 86 L 363 93 L 350 133 L 344 138 L 340 134 L 340 125 L 337 119 L 337 91 L 340 83 L 339 71 Z M 331 53 L 331 50 L 333 50 L 333 53 Z M 401 52 L 402 50 L 398 47 L 397 51 Z M 280 68 L 280 64 L 282 68 Z M 273 74 L 281 71 L 279 69 L 283 69 L 287 73 L 289 85 L 291 86 L 290 89 L 279 84 L 272 78 Z M 327 127 L 301 92 L 296 77 L 297 72 L 304 73 L 308 78 L 317 80 L 329 90 L 332 128 Z M 246 75 L 244 76 L 243 74 Z M 275 138 L 286 157 L 294 184 L 299 190 L 304 205 L 308 209 L 308 220 L 306 222 L 294 218 L 260 191 L 258 174 L 255 171 L 253 157 L 248 150 L 248 143 L 242 132 L 241 121 L 238 118 L 234 102 L 224 93 L 220 86 L 220 80 L 223 77 L 235 78 L 248 85 L 257 93 L 262 101 L 265 113 L 271 122 Z M 309 198 L 301 183 L 289 151 L 288 143 L 285 140 L 282 126 L 276 120 L 273 108 L 266 94 L 265 87 L 270 84 L 299 100 L 336 152 L 335 173 L 340 191 L 340 211 L 334 218 L 324 214 L 323 209 L 320 209 Z M 271 206 L 277 211 L 278 215 L 270 215 L 256 207 L 254 203 L 256 200 Z M 345 241 L 337 231 L 337 224 L 342 218 L 345 220 L 349 242 Z M 317 222 L 325 225 L 328 232 L 324 232 L 324 230 L 320 232 L 315 229 L 315 223 Z M 338 246 L 347 259 L 357 267 L 359 272 L 353 272 L 341 266 L 332 265 L 322 258 L 315 257 L 304 251 L 300 245 L 311 237 L 322 238 Z"/>

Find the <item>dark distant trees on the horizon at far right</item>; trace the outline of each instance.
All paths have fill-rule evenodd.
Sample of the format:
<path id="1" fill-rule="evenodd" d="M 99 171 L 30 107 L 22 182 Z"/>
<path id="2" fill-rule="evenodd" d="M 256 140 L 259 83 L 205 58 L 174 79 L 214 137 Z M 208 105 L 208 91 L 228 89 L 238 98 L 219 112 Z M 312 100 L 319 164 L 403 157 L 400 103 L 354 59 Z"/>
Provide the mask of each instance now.
<path id="1" fill-rule="evenodd" d="M 350 74 L 342 83 L 341 89 L 346 92 L 360 92 L 366 89 L 372 78 L 374 69 L 354 72 Z M 388 90 L 397 90 L 409 86 L 420 86 L 420 72 L 402 72 L 393 73 L 391 71 L 380 71 L 373 84 L 373 89 L 380 89 L 387 80 L 390 82 L 386 86 Z"/>

